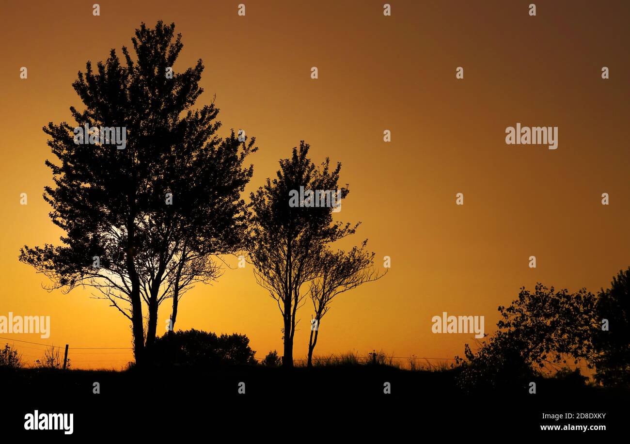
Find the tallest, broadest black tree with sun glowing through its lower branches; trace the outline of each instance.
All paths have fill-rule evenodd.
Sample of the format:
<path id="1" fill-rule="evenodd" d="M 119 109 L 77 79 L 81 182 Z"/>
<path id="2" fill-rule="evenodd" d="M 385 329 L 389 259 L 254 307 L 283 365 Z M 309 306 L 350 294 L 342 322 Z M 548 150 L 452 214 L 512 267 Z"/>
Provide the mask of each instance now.
<path id="1" fill-rule="evenodd" d="M 46 161 L 55 185 L 44 199 L 64 236 L 62 246 L 25 246 L 20 254 L 52 288 L 88 285 L 120 310 L 131 321 L 139 364 L 154 343 L 159 304 L 216 278 L 212 254 L 242 241 L 240 193 L 253 171 L 243 162 L 256 150 L 253 139 L 240 141 L 234 132 L 217 137 L 214 101 L 192 110 L 203 92 L 203 64 L 169 76 L 182 48 L 174 30 L 142 23 L 132 38 L 135 60 L 123 47 L 121 64 L 112 49 L 96 72 L 91 62 L 79 72 L 72 86 L 85 109 L 70 108 L 77 126 L 125 127 L 126 147 L 75 144 L 66 122 L 43 128 L 58 159 Z"/>

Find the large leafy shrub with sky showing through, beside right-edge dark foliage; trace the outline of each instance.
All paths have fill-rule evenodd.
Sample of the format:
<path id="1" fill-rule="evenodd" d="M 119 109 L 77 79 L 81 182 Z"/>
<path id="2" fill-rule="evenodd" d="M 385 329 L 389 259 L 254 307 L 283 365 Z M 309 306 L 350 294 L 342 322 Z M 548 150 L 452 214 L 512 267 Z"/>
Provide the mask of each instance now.
<path id="1" fill-rule="evenodd" d="M 536 285 L 534 292 L 520 289 L 509 307 L 499 307 L 501 320 L 493 336 L 480 343 L 476 353 L 466 344 L 466 360 L 457 384 L 467 392 L 520 390 L 547 365 L 590 356 L 595 326 L 596 297 L 584 288 L 570 293 Z"/>

